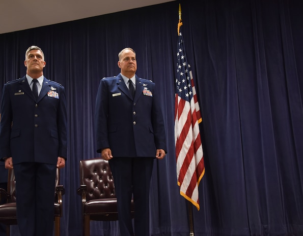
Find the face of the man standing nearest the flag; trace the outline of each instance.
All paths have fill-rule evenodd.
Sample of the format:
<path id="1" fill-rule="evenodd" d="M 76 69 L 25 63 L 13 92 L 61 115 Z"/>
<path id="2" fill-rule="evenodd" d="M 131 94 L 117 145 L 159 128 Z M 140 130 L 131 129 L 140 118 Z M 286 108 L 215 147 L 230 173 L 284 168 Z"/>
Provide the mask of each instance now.
<path id="1" fill-rule="evenodd" d="M 121 73 L 127 75 L 135 73 L 137 70 L 137 61 L 133 51 L 126 49 L 122 52 L 121 58 L 118 61 L 118 66 L 121 68 Z"/>

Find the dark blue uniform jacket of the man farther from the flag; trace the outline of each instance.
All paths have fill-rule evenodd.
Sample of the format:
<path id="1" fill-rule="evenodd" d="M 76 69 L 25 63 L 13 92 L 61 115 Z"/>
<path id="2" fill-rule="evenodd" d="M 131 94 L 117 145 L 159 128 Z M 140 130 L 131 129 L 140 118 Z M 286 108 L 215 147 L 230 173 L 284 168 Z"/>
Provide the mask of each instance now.
<path id="1" fill-rule="evenodd" d="M 56 164 L 67 156 L 67 115 L 64 87 L 44 77 L 37 100 L 26 77 L 3 87 L 0 159 L 13 163 Z"/>

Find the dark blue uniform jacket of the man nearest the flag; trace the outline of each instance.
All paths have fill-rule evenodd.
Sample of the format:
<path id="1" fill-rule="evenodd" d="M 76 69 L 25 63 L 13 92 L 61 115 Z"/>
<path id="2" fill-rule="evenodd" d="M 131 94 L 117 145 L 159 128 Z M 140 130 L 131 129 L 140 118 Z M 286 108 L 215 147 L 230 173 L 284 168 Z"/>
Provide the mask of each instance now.
<path id="1" fill-rule="evenodd" d="M 97 152 L 111 148 L 114 157 L 155 157 L 167 150 L 166 132 L 155 84 L 135 76 L 132 98 L 121 74 L 103 78 L 96 98 Z"/>

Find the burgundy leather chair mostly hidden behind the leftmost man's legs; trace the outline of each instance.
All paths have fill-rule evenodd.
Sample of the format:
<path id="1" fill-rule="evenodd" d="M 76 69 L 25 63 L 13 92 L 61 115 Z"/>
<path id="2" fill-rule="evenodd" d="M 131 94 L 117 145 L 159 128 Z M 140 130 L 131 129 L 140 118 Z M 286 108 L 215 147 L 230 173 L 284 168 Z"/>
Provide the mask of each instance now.
<path id="1" fill-rule="evenodd" d="M 6 235 L 10 236 L 10 225 L 16 225 L 16 187 L 15 187 L 14 170 L 9 170 L 8 190 L 0 188 L 1 197 L 7 199 L 7 203 L 0 205 L 0 222 L 6 225 Z M 60 183 L 60 170 L 57 168 L 56 188 L 54 190 L 54 235 L 60 236 L 60 218 L 62 216 L 62 195 L 65 192 L 63 185 Z"/>

